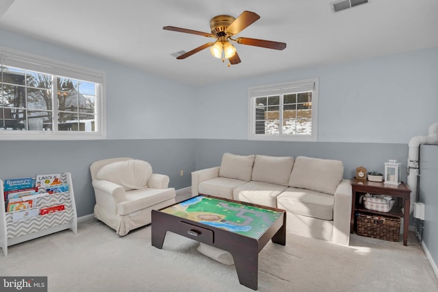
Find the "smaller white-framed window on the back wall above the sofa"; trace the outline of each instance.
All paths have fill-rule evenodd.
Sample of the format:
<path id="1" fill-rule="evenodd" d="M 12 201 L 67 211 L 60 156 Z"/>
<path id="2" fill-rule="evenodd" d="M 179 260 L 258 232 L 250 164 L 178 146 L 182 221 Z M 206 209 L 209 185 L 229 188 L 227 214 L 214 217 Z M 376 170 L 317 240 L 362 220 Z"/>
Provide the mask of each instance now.
<path id="1" fill-rule="evenodd" d="M 253 140 L 316 141 L 318 79 L 249 88 Z"/>

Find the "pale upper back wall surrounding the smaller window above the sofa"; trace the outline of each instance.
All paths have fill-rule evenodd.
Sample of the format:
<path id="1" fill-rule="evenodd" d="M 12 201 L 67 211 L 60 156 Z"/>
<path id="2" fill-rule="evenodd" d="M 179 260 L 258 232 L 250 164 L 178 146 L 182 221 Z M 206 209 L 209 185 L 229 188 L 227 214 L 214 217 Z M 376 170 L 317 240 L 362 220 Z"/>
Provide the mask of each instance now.
<path id="1" fill-rule="evenodd" d="M 250 86 L 315 77 L 318 141 L 408 143 L 438 121 L 435 48 L 197 88 L 196 138 L 246 139 Z"/>

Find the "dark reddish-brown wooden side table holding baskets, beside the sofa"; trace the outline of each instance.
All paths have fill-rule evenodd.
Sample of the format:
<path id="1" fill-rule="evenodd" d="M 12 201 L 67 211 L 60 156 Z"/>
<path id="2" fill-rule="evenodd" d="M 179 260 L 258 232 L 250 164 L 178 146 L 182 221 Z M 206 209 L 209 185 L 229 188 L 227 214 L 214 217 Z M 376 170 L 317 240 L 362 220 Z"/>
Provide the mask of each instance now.
<path id="1" fill-rule="evenodd" d="M 352 206 L 351 206 L 351 222 L 350 233 L 353 233 L 355 228 L 355 213 L 360 210 L 377 215 L 389 215 L 394 217 L 403 218 L 403 245 L 408 245 L 408 232 L 409 232 L 409 208 L 411 208 L 411 190 L 402 182 L 398 186 L 385 186 L 383 182 L 370 182 L 368 180 L 353 179 L 352 186 Z M 374 210 L 368 210 L 358 203 L 359 196 L 357 193 L 372 193 L 379 195 L 390 195 L 392 197 L 399 197 L 404 200 L 404 214 L 400 209 L 400 206 L 394 204 L 390 212 L 378 212 Z"/>

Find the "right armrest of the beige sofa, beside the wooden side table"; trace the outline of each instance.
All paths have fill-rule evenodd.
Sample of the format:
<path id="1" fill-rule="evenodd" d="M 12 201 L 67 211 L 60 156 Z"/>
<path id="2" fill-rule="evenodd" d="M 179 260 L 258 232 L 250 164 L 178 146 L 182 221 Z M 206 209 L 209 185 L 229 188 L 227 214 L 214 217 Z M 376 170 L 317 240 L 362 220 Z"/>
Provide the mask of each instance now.
<path id="1" fill-rule="evenodd" d="M 342 180 L 335 191 L 333 243 L 348 245 L 350 242 L 351 203 L 351 180 Z"/>

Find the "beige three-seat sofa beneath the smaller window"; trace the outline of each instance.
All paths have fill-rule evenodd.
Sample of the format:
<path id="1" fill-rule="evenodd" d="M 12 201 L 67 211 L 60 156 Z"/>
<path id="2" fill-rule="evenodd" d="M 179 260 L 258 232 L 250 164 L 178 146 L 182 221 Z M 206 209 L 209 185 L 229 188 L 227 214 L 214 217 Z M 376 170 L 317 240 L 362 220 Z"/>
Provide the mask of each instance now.
<path id="1" fill-rule="evenodd" d="M 339 160 L 226 153 L 220 167 L 192 172 L 203 193 L 287 211 L 287 231 L 348 245 L 352 189 Z"/>

